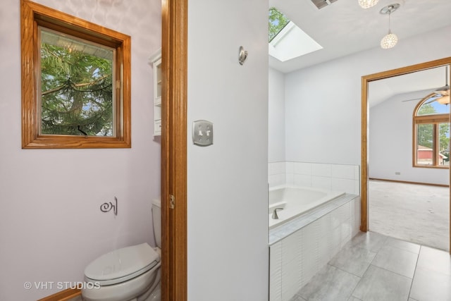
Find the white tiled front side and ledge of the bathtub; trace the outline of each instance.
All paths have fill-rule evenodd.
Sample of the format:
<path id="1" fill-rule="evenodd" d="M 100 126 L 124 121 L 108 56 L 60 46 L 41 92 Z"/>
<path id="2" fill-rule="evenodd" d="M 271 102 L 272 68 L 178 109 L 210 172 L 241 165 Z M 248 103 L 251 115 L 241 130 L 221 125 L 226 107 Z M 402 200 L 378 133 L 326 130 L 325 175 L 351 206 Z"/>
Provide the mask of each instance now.
<path id="1" fill-rule="evenodd" d="M 359 233 L 359 225 L 359 196 L 345 194 L 271 229 L 269 300 L 290 300 L 295 296 Z"/>

